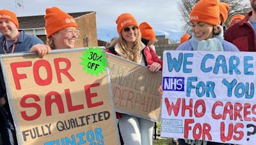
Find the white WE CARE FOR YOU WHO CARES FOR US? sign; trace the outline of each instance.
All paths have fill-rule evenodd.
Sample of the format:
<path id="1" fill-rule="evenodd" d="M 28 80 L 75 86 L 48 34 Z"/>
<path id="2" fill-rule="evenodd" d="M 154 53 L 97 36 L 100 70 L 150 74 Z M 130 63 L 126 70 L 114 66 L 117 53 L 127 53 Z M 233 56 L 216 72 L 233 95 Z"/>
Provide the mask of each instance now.
<path id="1" fill-rule="evenodd" d="M 255 58 L 165 51 L 161 136 L 255 144 Z"/>

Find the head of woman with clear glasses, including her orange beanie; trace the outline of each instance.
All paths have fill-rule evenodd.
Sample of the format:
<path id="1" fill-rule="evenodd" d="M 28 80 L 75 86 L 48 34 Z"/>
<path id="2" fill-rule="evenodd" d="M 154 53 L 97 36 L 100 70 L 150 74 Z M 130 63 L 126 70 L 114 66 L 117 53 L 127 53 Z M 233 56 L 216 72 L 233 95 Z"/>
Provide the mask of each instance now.
<path id="1" fill-rule="evenodd" d="M 47 8 L 45 12 L 48 45 L 52 49 L 75 48 L 79 31 L 74 18 L 56 7 Z"/>

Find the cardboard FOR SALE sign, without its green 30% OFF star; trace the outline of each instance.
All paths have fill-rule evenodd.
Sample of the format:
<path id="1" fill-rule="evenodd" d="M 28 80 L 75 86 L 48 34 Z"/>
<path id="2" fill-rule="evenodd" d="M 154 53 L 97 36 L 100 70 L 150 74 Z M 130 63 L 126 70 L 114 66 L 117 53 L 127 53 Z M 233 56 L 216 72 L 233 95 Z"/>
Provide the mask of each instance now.
<path id="1" fill-rule="evenodd" d="M 120 144 L 108 71 L 83 71 L 83 50 L 1 55 L 19 144 Z"/>

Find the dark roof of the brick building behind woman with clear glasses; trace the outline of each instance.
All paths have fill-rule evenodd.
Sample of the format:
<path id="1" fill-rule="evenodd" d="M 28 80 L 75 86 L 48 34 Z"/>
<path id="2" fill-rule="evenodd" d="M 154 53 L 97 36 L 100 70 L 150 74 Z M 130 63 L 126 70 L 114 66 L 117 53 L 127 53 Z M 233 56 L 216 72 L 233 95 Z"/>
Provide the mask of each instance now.
<path id="1" fill-rule="evenodd" d="M 81 17 L 87 15 L 88 13 L 95 13 L 95 11 L 84 11 L 79 13 L 68 13 L 73 18 Z M 28 28 L 41 28 L 45 27 L 44 15 L 37 16 L 26 16 L 26 17 L 17 17 L 19 20 L 19 29 L 28 29 Z"/>

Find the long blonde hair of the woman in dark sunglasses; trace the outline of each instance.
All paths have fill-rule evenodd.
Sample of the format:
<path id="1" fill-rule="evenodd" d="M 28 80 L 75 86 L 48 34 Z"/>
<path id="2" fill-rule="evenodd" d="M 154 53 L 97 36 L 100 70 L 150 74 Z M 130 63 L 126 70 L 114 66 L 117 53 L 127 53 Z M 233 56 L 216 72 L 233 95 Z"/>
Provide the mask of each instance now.
<path id="1" fill-rule="evenodd" d="M 118 45 L 120 48 L 120 53 L 124 59 L 131 60 L 132 62 L 140 62 L 140 54 L 141 54 L 141 33 L 139 29 L 136 30 L 138 36 L 133 43 L 132 48 L 128 48 L 127 42 L 122 37 L 122 33 L 119 35 L 118 39 L 111 41 L 109 46 Z"/>

